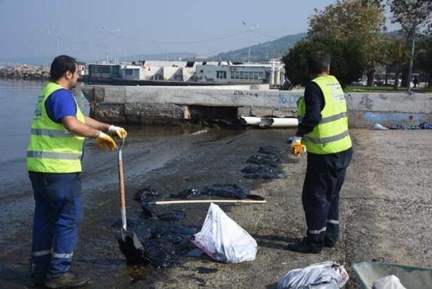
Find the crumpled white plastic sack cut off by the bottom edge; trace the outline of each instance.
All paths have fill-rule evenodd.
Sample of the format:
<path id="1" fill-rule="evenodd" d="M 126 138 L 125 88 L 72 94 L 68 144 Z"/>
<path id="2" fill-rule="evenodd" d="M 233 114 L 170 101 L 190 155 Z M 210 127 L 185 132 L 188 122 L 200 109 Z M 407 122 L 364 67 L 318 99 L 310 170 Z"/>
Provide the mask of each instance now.
<path id="1" fill-rule="evenodd" d="M 339 289 L 347 283 L 348 272 L 333 261 L 289 271 L 277 283 L 277 289 Z"/>

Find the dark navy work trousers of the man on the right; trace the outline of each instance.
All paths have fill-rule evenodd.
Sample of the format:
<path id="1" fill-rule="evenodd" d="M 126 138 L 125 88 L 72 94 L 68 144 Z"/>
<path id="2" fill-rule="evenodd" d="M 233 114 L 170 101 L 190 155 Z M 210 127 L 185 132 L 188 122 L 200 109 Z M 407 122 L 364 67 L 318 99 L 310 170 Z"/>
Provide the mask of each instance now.
<path id="1" fill-rule="evenodd" d="M 324 239 L 335 244 L 339 237 L 339 193 L 352 159 L 352 148 L 319 155 L 308 153 L 302 203 L 310 246 L 322 248 Z"/>

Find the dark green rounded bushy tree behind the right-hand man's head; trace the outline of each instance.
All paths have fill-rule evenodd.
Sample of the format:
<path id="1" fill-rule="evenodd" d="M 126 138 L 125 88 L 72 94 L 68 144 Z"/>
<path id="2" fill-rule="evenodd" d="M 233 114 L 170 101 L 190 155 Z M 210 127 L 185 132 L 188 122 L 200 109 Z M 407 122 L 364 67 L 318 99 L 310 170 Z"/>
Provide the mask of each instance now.
<path id="1" fill-rule="evenodd" d="M 282 57 L 286 76 L 294 85 L 304 85 L 310 80 L 308 76 L 307 57 L 311 52 L 325 51 L 332 57 L 330 74 L 334 75 L 341 85 L 352 83 L 361 78 L 365 68 L 363 52 L 359 41 L 352 39 L 308 38 L 299 41 Z"/>

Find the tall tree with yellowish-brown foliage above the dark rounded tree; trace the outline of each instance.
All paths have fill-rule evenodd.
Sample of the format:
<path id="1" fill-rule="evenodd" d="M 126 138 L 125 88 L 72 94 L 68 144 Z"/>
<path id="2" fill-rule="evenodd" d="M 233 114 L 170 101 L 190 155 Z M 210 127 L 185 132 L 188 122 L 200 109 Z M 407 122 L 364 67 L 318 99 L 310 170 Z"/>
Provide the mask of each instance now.
<path id="1" fill-rule="evenodd" d="M 383 63 L 380 51 L 384 45 L 385 9 L 380 1 L 337 0 L 323 11 L 315 10 L 309 26 L 312 37 L 358 41 L 367 64 L 367 84 L 374 85 L 374 67 Z"/>

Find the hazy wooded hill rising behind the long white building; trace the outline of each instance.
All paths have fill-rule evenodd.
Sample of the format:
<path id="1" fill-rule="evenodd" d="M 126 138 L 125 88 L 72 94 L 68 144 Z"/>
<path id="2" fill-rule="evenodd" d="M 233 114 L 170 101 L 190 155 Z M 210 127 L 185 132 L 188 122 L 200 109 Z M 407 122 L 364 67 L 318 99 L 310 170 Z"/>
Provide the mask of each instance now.
<path id="1" fill-rule="evenodd" d="M 251 46 L 251 61 L 268 61 L 269 58 L 280 58 L 285 54 L 289 48 L 293 47 L 297 41 L 303 39 L 306 33 L 299 33 L 293 35 L 286 35 L 280 39 L 273 41 L 259 43 Z M 248 58 L 249 47 L 240 48 L 238 50 L 231 50 L 229 52 L 222 52 L 209 59 L 214 61 L 239 61 L 246 62 Z"/>

